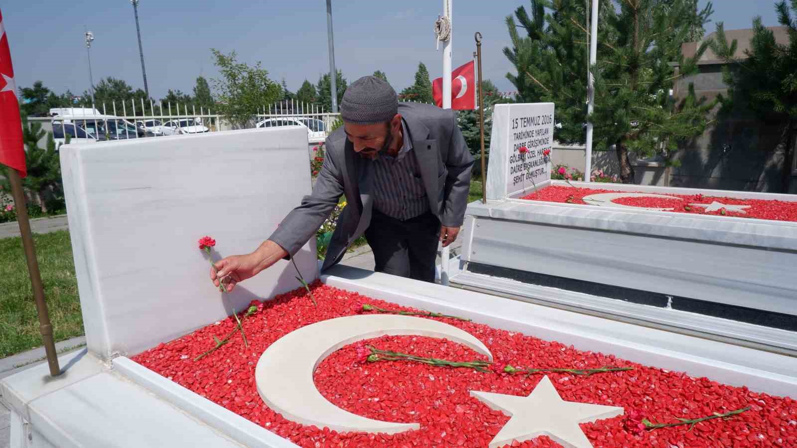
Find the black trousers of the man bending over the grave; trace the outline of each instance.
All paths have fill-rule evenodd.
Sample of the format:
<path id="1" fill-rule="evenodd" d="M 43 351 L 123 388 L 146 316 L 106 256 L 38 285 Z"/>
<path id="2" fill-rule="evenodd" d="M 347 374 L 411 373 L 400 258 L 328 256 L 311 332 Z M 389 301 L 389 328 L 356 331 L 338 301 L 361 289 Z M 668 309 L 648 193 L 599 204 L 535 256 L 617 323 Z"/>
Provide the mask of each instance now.
<path id="1" fill-rule="evenodd" d="M 376 272 L 434 282 L 440 220 L 431 212 L 402 221 L 373 210 L 365 238 Z"/>

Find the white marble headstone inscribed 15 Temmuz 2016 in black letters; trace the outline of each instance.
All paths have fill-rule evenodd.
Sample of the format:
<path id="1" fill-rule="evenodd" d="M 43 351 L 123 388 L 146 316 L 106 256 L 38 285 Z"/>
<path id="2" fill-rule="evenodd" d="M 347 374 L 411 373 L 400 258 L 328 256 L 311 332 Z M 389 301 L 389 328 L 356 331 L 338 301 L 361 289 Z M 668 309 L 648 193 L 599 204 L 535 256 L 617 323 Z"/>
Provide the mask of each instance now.
<path id="1" fill-rule="evenodd" d="M 496 104 L 487 169 L 487 198 L 503 199 L 551 179 L 543 151 L 553 144 L 553 103 Z M 523 154 L 520 147 L 527 147 Z"/>

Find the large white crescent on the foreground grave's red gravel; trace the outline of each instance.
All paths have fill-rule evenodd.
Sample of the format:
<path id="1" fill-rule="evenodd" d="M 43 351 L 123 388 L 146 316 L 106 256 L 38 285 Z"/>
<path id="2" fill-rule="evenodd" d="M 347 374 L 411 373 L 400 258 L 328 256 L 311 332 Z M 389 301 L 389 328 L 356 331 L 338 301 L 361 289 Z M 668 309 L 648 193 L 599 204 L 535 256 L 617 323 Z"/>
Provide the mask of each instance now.
<path id="1" fill-rule="evenodd" d="M 493 360 L 489 349 L 476 337 L 437 320 L 383 314 L 337 317 L 289 332 L 266 348 L 254 372 L 257 393 L 285 419 L 303 425 L 327 426 L 341 432 L 395 434 L 417 430 L 418 423 L 382 422 L 344 411 L 325 399 L 313 383 L 316 367 L 332 352 L 358 340 L 385 335 L 446 338 Z"/>

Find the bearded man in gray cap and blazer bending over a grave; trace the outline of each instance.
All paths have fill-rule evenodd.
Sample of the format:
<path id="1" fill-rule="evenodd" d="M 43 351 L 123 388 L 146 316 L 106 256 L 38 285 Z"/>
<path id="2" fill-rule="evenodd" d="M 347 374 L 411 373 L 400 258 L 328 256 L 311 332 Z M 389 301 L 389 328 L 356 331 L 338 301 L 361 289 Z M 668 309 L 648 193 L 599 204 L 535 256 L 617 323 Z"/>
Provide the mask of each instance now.
<path id="1" fill-rule="evenodd" d="M 335 265 L 365 234 L 377 272 L 434 281 L 438 241 L 457 239 L 473 166 L 453 111 L 430 104 L 398 104 L 395 90 L 376 77 L 346 89 L 344 126 L 326 140 L 324 165 L 301 205 L 253 253 L 226 257 L 210 269 L 227 291 L 281 258 L 298 252 L 335 208 L 338 218 L 321 269 Z"/>

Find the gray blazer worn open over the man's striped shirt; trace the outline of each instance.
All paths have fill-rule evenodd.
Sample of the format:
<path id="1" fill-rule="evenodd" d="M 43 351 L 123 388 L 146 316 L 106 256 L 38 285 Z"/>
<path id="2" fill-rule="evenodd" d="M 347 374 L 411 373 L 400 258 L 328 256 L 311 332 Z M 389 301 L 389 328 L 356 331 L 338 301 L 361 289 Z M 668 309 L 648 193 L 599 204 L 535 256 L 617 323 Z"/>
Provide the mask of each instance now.
<path id="1" fill-rule="evenodd" d="M 420 103 L 399 103 L 398 113 L 410 134 L 404 138 L 412 140 L 421 167 L 430 210 L 442 225 L 461 226 L 473 157 L 457 127 L 456 113 Z M 325 149 L 324 165 L 312 194 L 304 196 L 301 205 L 269 237 L 292 256 L 329 217 L 340 195 L 346 195 L 347 205 L 340 214 L 321 269 L 340 261 L 348 246 L 363 234 L 371 222 L 373 206 L 371 161 L 355 153 L 343 127 L 327 137 Z"/>

